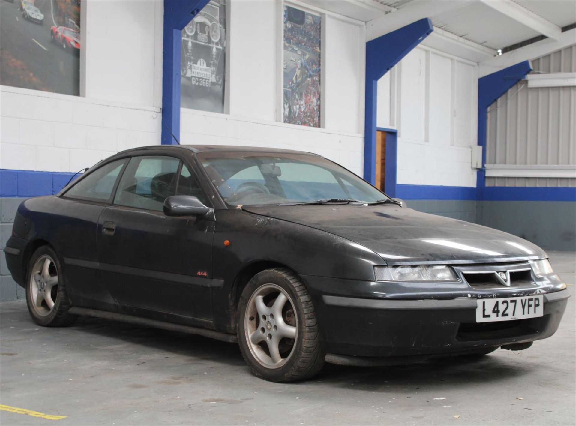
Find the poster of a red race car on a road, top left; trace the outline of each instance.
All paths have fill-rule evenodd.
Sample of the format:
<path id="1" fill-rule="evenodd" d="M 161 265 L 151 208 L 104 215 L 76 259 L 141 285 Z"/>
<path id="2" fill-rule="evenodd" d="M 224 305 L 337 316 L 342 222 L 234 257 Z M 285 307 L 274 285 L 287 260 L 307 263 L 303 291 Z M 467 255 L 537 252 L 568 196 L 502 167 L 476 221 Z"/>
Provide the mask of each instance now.
<path id="1" fill-rule="evenodd" d="M 1 85 L 79 95 L 80 3 L 0 3 Z"/>

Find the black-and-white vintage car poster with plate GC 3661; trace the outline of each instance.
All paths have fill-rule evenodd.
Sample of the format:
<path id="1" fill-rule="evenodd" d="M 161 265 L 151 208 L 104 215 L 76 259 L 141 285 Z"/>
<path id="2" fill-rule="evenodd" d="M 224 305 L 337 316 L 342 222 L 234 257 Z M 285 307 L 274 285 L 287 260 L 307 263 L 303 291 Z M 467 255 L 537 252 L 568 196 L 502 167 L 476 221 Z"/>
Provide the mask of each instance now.
<path id="1" fill-rule="evenodd" d="M 182 108 L 224 112 L 225 28 L 225 2 L 211 0 L 182 31 Z"/>

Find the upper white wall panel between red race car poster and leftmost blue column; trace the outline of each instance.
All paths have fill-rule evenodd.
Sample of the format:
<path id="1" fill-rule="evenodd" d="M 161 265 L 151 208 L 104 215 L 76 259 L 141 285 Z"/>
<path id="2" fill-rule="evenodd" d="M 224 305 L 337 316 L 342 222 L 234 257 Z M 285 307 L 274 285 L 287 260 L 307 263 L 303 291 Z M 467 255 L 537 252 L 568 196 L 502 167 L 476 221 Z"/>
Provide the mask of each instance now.
<path id="1" fill-rule="evenodd" d="M 85 96 L 161 107 L 164 2 L 82 2 Z"/>

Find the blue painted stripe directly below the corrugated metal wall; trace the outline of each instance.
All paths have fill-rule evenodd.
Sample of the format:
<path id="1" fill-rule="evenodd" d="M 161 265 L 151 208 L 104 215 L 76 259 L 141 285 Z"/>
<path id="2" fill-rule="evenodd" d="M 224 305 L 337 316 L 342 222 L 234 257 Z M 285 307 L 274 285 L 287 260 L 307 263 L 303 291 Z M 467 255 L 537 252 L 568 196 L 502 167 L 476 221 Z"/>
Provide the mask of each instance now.
<path id="1" fill-rule="evenodd" d="M 576 188 L 484 187 L 486 201 L 576 201 Z"/>

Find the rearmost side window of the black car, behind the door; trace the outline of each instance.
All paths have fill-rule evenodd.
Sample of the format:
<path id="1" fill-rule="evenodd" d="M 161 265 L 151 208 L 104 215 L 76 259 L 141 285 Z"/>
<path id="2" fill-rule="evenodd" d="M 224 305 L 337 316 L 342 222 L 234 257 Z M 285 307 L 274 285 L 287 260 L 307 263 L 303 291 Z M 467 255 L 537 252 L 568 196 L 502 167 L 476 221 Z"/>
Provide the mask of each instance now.
<path id="1" fill-rule="evenodd" d="M 64 196 L 79 200 L 108 201 L 112 196 L 114 184 L 127 159 L 112 161 L 94 170 L 78 181 Z"/>

